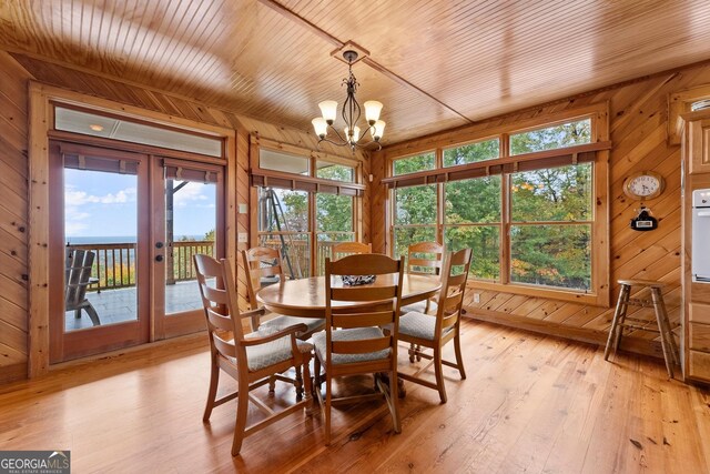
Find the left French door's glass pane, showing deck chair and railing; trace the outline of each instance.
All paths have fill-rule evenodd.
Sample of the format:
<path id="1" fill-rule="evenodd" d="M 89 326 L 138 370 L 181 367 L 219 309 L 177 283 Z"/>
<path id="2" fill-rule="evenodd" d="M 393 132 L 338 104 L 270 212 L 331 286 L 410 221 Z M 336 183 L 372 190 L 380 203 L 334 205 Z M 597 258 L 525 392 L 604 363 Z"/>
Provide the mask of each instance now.
<path id="1" fill-rule="evenodd" d="M 64 169 L 64 331 L 138 320 L 138 175 Z"/>

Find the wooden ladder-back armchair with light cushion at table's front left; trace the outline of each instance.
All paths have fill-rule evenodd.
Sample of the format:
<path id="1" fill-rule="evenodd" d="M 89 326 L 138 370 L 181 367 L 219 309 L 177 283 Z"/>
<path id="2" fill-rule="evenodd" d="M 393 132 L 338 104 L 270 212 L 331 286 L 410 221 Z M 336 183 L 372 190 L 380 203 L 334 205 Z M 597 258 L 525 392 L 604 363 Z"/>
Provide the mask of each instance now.
<path id="1" fill-rule="evenodd" d="M 209 255 L 197 254 L 194 255 L 194 262 L 211 353 L 210 391 L 202 420 L 207 422 L 215 406 L 237 400 L 232 442 L 232 455 L 236 456 L 246 436 L 303 407 L 311 411 L 313 399 L 310 396 L 312 386 L 308 364 L 313 345 L 296 339 L 296 333 L 305 331 L 305 324 L 294 324 L 270 333 L 244 334 L 242 320 L 262 315 L 264 311 L 258 309 L 240 313 L 236 285 L 229 261 L 223 259 L 217 262 Z M 303 367 L 306 396 L 302 401 L 275 411 L 251 394 L 254 389 L 268 383 L 272 375 L 290 367 Z M 239 390 L 217 399 L 222 371 L 237 382 Z M 247 426 L 250 400 L 266 417 Z"/>

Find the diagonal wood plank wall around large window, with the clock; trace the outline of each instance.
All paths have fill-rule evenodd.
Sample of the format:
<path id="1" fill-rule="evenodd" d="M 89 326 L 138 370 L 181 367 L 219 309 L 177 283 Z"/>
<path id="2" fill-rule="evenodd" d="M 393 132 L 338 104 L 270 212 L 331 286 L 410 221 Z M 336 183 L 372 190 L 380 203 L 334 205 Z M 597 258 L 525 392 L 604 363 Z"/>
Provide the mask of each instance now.
<path id="1" fill-rule="evenodd" d="M 710 83 L 710 65 L 701 64 L 677 71 L 641 78 L 618 87 L 580 94 L 518 113 L 506 114 L 476 123 L 459 131 L 440 133 L 404 144 L 416 148 L 423 142 L 454 140 L 462 131 L 470 132 L 525 119 L 540 118 L 560 110 L 571 110 L 591 103 L 609 101 L 610 137 L 610 254 L 612 302 L 616 303 L 618 284 L 622 278 L 659 280 L 668 284 L 665 300 L 672 324 L 680 319 L 680 183 L 681 151 L 679 145 L 668 144 L 668 95 L 672 92 Z M 403 144 L 395 145 L 402 148 Z M 386 150 L 385 150 L 386 151 Z M 372 190 L 373 244 L 376 251 L 385 250 L 387 220 L 385 218 L 387 191 L 379 183 L 385 173 L 383 152 L 373 157 L 375 174 Z M 623 180 L 636 171 L 653 170 L 666 178 L 667 189 L 647 205 L 659 220 L 659 229 L 652 232 L 635 232 L 629 220 L 635 215 L 638 201 L 629 200 L 622 192 Z M 474 255 L 474 258 L 476 258 Z M 480 302 L 474 303 L 474 293 Z M 471 317 L 498 322 L 577 340 L 604 343 L 613 314 L 613 307 L 597 307 L 541 297 L 475 290 L 469 283 L 465 306 Z M 631 309 L 630 309 L 631 310 Z M 650 310 L 637 315 L 651 317 Z M 630 313 L 629 313 L 630 314 Z M 679 333 L 679 331 L 676 331 Z M 660 355 L 659 344 L 651 333 L 635 333 L 626 349 Z"/>

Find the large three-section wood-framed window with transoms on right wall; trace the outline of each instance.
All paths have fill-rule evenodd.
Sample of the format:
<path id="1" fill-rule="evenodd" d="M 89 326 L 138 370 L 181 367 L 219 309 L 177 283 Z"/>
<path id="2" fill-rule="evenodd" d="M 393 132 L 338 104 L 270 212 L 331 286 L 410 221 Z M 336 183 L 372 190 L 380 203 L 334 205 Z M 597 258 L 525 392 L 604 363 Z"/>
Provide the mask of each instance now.
<path id="1" fill-rule="evenodd" d="M 383 182 L 392 189 L 393 255 L 420 241 L 470 248 L 476 288 L 608 304 L 608 160 L 597 158 L 608 158 L 610 143 L 599 138 L 608 130 L 595 129 L 606 105 L 588 109 L 392 159 Z"/>

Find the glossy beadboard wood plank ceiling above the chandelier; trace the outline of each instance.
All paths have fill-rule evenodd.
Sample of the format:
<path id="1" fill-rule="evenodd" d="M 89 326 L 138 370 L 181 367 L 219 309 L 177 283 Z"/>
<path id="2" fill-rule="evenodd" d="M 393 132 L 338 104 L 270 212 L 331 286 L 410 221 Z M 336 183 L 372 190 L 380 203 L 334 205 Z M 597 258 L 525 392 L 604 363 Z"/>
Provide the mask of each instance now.
<path id="1" fill-rule="evenodd" d="M 707 0 L 0 0 L 0 49 L 311 129 L 342 102 L 385 104 L 385 142 L 465 125 L 710 59 Z M 22 62 L 22 61 L 21 61 Z M 27 61 L 24 61 L 27 62 Z"/>

